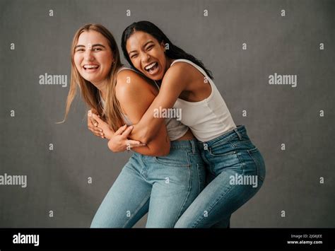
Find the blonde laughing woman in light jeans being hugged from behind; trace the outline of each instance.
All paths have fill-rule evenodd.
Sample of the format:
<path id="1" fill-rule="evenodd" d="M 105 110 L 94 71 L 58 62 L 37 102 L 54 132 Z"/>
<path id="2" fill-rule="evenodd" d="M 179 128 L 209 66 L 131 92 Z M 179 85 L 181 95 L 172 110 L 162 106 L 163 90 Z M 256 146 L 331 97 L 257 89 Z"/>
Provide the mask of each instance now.
<path id="1" fill-rule="evenodd" d="M 122 66 L 114 37 L 97 24 L 84 25 L 74 35 L 64 120 L 77 86 L 86 105 L 97 112 L 93 117 L 109 146 L 122 137 L 123 129 L 117 129 L 139 122 L 158 94 L 147 78 Z M 134 151 L 103 199 L 92 228 L 130 228 L 147 212 L 146 227 L 173 228 L 204 188 L 204 164 L 196 140 L 176 119 L 162 124 L 151 141 Z"/>

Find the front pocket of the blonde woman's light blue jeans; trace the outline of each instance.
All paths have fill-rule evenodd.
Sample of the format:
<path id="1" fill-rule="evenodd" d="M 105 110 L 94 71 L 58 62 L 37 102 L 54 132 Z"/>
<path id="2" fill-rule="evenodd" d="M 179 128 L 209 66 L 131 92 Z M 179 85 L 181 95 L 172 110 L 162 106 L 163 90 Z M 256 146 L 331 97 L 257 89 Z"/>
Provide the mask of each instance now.
<path id="1" fill-rule="evenodd" d="M 174 167 L 189 167 L 191 165 L 189 153 L 182 149 L 171 149 L 168 156 L 154 157 L 154 159 L 156 163 L 161 165 Z"/>

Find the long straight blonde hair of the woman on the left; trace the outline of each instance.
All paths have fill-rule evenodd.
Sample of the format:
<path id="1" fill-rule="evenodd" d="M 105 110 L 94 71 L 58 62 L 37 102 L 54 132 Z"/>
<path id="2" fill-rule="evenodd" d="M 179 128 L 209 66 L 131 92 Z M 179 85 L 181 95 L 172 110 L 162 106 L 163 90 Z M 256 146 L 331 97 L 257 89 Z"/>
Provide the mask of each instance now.
<path id="1" fill-rule="evenodd" d="M 94 30 L 104 37 L 106 37 L 108 41 L 108 45 L 110 45 L 110 49 L 112 49 L 112 54 L 114 58 L 114 63 L 111 66 L 110 73 L 107 76 L 107 86 L 106 86 L 106 102 L 105 102 L 105 110 L 102 109 L 100 94 L 98 88 L 96 88 L 93 83 L 84 79 L 81 74 L 79 74 L 78 70 L 76 69 L 76 65 L 74 63 L 74 52 L 75 46 L 78 42 L 78 38 L 83 32 L 88 32 L 89 30 Z M 122 118 L 122 109 L 119 105 L 119 101 L 117 100 L 116 93 L 115 93 L 115 86 L 117 84 L 117 71 L 122 67 L 120 61 L 120 54 L 119 49 L 117 48 L 117 42 L 115 42 L 112 33 L 110 33 L 107 28 L 103 25 L 89 23 L 83 25 L 83 27 L 79 28 L 74 35 L 74 40 L 72 41 L 71 46 L 71 84 L 69 89 L 69 94 L 66 99 L 66 110 L 64 120 L 67 115 L 69 114 L 69 110 L 71 107 L 71 103 L 76 96 L 76 88 L 77 86 L 81 90 L 81 95 L 83 100 L 85 101 L 86 105 L 90 108 L 94 108 L 97 110 L 100 117 L 110 125 L 110 127 L 116 131 L 119 127 L 124 124 L 124 120 Z M 61 123 L 62 123 L 61 122 Z"/>

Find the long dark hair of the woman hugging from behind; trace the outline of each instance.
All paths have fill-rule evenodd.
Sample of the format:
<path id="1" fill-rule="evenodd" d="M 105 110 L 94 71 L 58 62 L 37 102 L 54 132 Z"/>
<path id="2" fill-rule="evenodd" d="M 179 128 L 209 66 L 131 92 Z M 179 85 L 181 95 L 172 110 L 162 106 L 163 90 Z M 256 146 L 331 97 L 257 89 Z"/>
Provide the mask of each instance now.
<path id="1" fill-rule="evenodd" d="M 201 67 L 206 71 L 206 74 L 213 79 L 211 71 L 206 69 L 204 64 L 199 60 L 196 59 L 194 56 L 191 54 L 188 54 L 187 52 L 184 52 L 183 49 L 180 49 L 180 47 L 177 47 L 176 45 L 173 45 L 172 42 L 167 38 L 167 36 L 163 33 L 160 28 L 158 28 L 156 25 L 149 21 L 139 21 L 139 22 L 134 22 L 129 25 L 124 32 L 122 33 L 122 40 L 121 40 L 121 47 L 122 47 L 122 52 L 124 54 L 124 57 L 127 59 L 131 67 L 136 69 L 134 65 L 131 63 L 131 60 L 129 58 L 128 52 L 127 52 L 127 40 L 129 37 L 135 33 L 136 31 L 143 31 L 144 33 L 148 33 L 155 37 L 156 40 L 158 40 L 159 43 L 164 42 L 165 45 L 168 44 L 169 48 L 166 49 L 165 54 L 167 57 L 170 59 L 187 59 L 197 66 Z"/>

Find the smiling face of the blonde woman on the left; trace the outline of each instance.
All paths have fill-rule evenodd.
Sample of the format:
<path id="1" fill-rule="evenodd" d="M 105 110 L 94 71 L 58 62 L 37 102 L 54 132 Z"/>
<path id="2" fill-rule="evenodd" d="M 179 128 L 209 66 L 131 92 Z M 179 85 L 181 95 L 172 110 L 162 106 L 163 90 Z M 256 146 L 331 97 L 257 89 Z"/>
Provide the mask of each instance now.
<path id="1" fill-rule="evenodd" d="M 106 37 L 95 30 L 84 31 L 74 47 L 74 63 L 79 74 L 95 86 L 101 85 L 112 67 L 112 49 Z"/>

